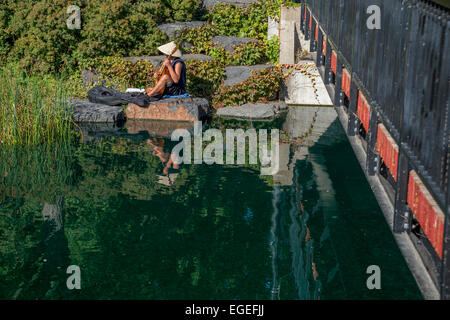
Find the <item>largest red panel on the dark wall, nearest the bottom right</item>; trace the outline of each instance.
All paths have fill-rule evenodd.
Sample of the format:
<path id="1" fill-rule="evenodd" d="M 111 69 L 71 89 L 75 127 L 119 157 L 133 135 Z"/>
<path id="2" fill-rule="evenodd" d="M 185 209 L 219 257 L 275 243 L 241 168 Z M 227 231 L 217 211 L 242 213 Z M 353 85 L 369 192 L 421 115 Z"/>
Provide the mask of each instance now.
<path id="1" fill-rule="evenodd" d="M 445 216 L 414 170 L 409 173 L 407 203 L 434 250 L 442 259 Z"/>

